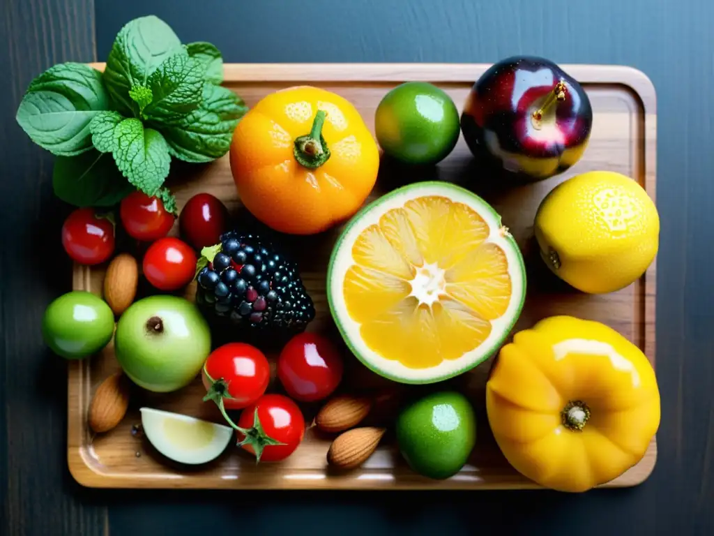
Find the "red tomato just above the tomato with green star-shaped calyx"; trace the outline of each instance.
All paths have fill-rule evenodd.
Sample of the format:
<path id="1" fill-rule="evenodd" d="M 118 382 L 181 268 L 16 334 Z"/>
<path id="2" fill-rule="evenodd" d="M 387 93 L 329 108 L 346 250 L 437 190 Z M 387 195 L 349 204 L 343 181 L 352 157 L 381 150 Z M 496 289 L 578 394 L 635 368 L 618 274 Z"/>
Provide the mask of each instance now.
<path id="1" fill-rule="evenodd" d="M 206 390 L 214 381 L 225 380 L 231 398 L 223 397 L 223 406 L 226 410 L 242 410 L 266 392 L 270 364 L 256 347 L 244 342 L 229 342 L 211 352 L 203 365 L 201 378 Z"/>

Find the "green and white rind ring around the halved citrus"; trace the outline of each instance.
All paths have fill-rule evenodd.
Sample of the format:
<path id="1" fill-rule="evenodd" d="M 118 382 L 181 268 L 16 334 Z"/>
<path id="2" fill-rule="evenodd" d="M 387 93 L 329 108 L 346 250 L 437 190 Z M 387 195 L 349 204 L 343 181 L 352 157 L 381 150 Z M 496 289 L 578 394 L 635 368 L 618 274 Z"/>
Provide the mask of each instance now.
<path id="1" fill-rule="evenodd" d="M 436 383 L 436 382 L 443 382 L 446 379 L 456 377 L 460 374 L 463 374 L 464 372 L 467 372 L 468 370 L 473 369 L 474 367 L 478 366 L 479 364 L 483 363 L 486 361 L 489 357 L 491 357 L 493 354 L 495 354 L 498 349 L 501 348 L 503 345 L 503 342 L 508 338 L 508 334 L 511 333 L 511 330 L 513 329 L 513 326 L 516 325 L 516 322 L 518 321 L 518 317 L 521 315 L 521 311 L 523 310 L 523 304 L 526 302 L 526 264 L 523 262 L 523 255 L 521 254 L 521 250 L 518 248 L 518 244 L 516 244 L 516 240 L 513 239 L 513 237 L 509 234 L 508 237 L 505 237 L 506 242 L 508 244 L 511 244 L 513 247 L 513 251 L 516 253 L 516 259 L 518 259 L 519 263 L 519 268 L 521 271 L 521 281 L 523 284 L 523 292 L 521 295 L 521 302 L 518 304 L 518 307 L 516 308 L 516 314 L 513 315 L 513 319 L 511 319 L 511 322 L 508 323 L 508 326 L 506 329 L 503 330 L 503 337 L 497 339 L 494 341 L 493 344 L 491 344 L 490 347 L 483 349 L 483 352 L 481 353 L 481 357 L 478 359 L 474 359 L 473 362 L 470 362 L 466 364 L 461 369 L 458 369 L 456 372 L 450 373 L 450 374 L 443 374 L 441 376 L 436 376 L 436 377 L 424 377 L 419 378 L 419 379 L 406 379 L 403 377 L 396 376 L 394 374 L 391 374 L 390 372 L 387 372 L 381 368 L 379 368 L 376 364 L 373 362 L 369 361 L 366 359 L 363 355 L 361 355 L 358 350 L 356 349 L 355 345 L 352 342 L 351 335 L 348 334 L 348 330 L 343 326 L 343 322 L 341 321 L 340 317 L 338 316 L 338 312 L 336 311 L 336 308 L 334 306 L 334 298 L 333 298 L 333 286 L 332 286 L 332 275 L 333 275 L 333 267 L 335 266 L 338 253 L 341 247 L 341 244 L 343 242 L 343 239 L 346 237 L 346 235 L 350 232 L 352 227 L 354 227 L 360 219 L 370 212 L 372 209 L 375 207 L 378 207 L 380 204 L 383 204 L 387 202 L 389 199 L 397 196 L 398 194 L 403 194 L 404 192 L 408 192 L 409 189 L 416 189 L 418 187 L 436 187 L 439 189 L 443 189 L 444 195 L 448 195 L 449 191 L 451 192 L 458 192 L 460 195 L 466 195 L 467 197 L 471 197 L 474 201 L 474 204 L 478 206 L 478 209 L 481 210 L 487 210 L 490 212 L 493 217 L 496 218 L 498 222 L 501 222 L 501 216 L 496 212 L 496 210 L 491 207 L 490 204 L 488 204 L 486 201 L 481 199 L 481 197 L 478 197 L 478 195 L 474 194 L 473 192 L 468 191 L 467 189 L 461 188 L 456 186 L 456 184 L 451 184 L 448 182 L 436 182 L 436 181 L 430 181 L 430 182 L 416 182 L 413 184 L 408 184 L 407 186 L 398 188 L 393 190 L 392 192 L 389 192 L 388 194 L 383 195 L 379 199 L 376 199 L 374 202 L 371 204 L 368 204 L 366 207 L 363 207 L 355 216 L 352 217 L 352 219 L 346 224 L 345 228 L 341 232 L 340 236 L 336 240 L 335 246 L 333 247 L 331 256 L 330 256 L 330 261 L 328 264 L 328 269 L 327 269 L 327 301 L 328 305 L 330 307 L 330 313 L 332 315 L 332 318 L 337 326 L 338 331 L 340 332 L 345 344 L 347 344 L 347 347 L 350 349 L 350 351 L 359 359 L 362 364 L 370 369 L 372 372 L 375 372 L 376 374 L 379 374 L 382 377 L 385 377 L 387 379 L 391 379 L 393 382 L 398 382 L 398 383 L 405 383 L 405 384 L 430 384 L 430 383 Z M 337 289 L 338 292 L 341 292 L 341 288 Z M 345 312 L 345 314 L 347 314 Z M 383 359 L 383 358 L 382 358 Z M 386 361 L 386 359 L 385 359 Z M 426 369 L 428 371 L 428 369 Z"/>

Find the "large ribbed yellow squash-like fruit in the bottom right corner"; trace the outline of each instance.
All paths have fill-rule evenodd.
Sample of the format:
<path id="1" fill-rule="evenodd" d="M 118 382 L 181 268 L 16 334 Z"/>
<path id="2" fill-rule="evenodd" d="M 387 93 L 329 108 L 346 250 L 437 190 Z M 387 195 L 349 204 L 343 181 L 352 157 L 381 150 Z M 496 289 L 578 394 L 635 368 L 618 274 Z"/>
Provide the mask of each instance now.
<path id="1" fill-rule="evenodd" d="M 572 402 L 589 411 L 579 431 L 563 415 Z M 642 459 L 659 426 L 660 395 L 647 357 L 614 329 L 550 317 L 501 349 L 486 411 L 516 470 L 545 487 L 582 492 Z"/>

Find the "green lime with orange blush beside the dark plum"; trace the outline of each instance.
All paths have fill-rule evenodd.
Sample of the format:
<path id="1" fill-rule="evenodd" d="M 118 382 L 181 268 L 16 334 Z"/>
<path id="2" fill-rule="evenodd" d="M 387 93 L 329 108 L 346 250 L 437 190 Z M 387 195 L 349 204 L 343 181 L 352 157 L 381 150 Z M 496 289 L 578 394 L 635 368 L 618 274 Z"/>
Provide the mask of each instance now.
<path id="1" fill-rule="evenodd" d="M 428 82 L 406 82 L 389 91 L 374 121 L 384 152 L 407 164 L 440 162 L 461 131 L 451 97 Z"/>

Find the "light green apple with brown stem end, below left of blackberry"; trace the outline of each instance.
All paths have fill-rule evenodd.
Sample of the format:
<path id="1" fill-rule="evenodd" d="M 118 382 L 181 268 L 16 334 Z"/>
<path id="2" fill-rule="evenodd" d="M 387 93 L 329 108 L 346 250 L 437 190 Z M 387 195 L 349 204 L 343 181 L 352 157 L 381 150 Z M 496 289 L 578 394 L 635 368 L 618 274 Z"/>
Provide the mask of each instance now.
<path id="1" fill-rule="evenodd" d="M 211 332 L 188 300 L 150 296 L 121 315 L 114 349 L 121 368 L 139 387 L 175 391 L 201 372 L 211 352 Z"/>

